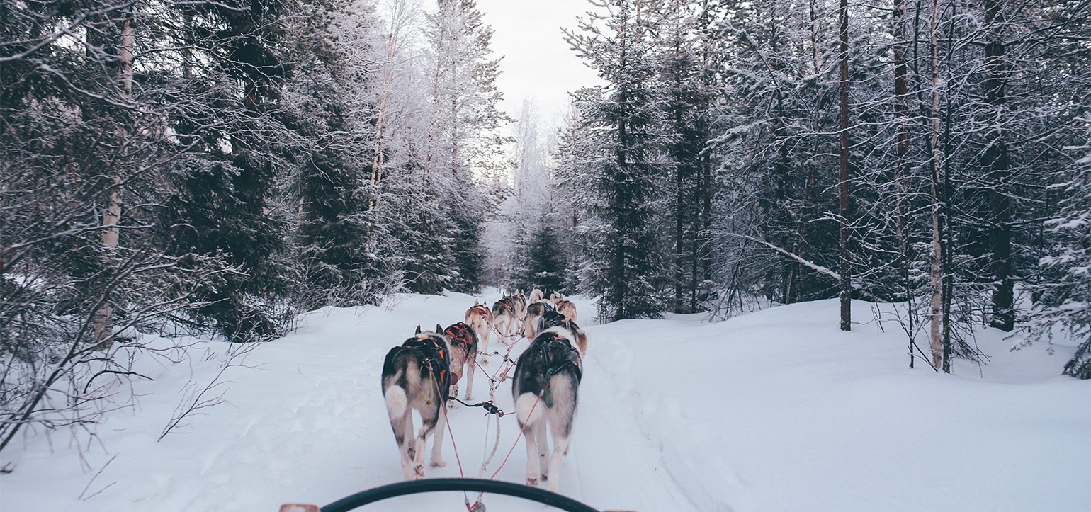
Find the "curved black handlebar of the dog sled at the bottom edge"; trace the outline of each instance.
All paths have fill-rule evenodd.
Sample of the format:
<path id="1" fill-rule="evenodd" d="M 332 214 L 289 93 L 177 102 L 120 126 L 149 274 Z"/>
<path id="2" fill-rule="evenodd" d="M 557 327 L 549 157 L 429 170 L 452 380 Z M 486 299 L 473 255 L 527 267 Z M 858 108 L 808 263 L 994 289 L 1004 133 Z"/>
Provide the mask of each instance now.
<path id="1" fill-rule="evenodd" d="M 482 478 L 424 478 L 399 481 L 357 492 L 321 508 L 315 504 L 286 503 L 280 505 L 279 512 L 349 512 L 387 498 L 441 491 L 489 492 L 535 501 L 567 512 L 599 512 L 585 503 L 546 489 Z M 480 501 L 471 505 L 467 500 L 466 509 L 470 512 L 484 512 L 484 505 Z"/>

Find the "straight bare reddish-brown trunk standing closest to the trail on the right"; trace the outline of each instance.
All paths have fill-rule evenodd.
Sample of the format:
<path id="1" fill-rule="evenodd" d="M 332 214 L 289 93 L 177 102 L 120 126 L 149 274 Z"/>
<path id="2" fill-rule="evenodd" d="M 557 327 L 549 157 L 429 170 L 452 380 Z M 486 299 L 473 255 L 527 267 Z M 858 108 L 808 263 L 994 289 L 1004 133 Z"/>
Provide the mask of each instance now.
<path id="1" fill-rule="evenodd" d="M 841 38 L 841 155 L 840 170 L 840 243 L 841 243 L 841 331 L 852 330 L 852 262 L 849 253 L 849 1 L 840 4 Z"/>

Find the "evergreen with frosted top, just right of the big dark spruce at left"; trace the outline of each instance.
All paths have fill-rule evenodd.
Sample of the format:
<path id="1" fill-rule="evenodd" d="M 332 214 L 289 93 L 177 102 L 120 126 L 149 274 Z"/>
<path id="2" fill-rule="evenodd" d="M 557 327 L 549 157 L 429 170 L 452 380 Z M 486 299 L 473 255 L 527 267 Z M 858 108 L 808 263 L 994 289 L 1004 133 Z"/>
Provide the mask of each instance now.
<path id="1" fill-rule="evenodd" d="M 290 180 L 298 198 L 296 245 L 303 267 L 302 302 L 358 306 L 385 291 L 380 262 L 369 253 L 368 206 L 377 193 L 371 175 L 374 131 L 365 62 L 370 16 L 364 5 L 304 5 L 315 12 L 293 27 L 301 71 L 285 93 L 286 123 L 311 141 Z"/>

